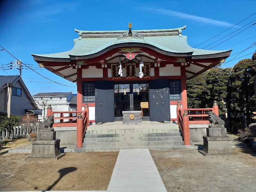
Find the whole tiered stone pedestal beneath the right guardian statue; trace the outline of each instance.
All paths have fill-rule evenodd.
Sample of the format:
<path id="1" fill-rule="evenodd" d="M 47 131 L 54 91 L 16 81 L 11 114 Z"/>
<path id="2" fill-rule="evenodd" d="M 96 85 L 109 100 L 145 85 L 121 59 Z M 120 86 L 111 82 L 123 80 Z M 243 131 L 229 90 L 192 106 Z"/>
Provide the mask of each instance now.
<path id="1" fill-rule="evenodd" d="M 204 148 L 199 150 L 203 155 L 234 154 L 231 137 L 227 136 L 225 127 L 206 128 L 207 136 L 203 136 Z"/>

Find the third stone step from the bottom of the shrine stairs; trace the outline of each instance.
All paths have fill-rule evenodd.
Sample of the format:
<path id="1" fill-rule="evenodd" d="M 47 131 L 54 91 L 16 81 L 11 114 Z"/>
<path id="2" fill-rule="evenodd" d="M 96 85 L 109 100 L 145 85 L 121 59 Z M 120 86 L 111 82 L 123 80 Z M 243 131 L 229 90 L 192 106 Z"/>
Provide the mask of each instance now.
<path id="1" fill-rule="evenodd" d="M 155 137 L 92 137 L 85 138 L 84 142 L 110 142 L 110 141 L 180 141 L 181 136 L 155 136 Z"/>

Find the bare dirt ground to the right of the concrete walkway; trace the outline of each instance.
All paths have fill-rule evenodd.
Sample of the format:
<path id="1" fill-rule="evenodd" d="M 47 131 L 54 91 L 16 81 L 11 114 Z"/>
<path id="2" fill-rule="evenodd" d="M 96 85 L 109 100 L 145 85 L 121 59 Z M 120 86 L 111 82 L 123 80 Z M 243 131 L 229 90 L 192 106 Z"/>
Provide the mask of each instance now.
<path id="1" fill-rule="evenodd" d="M 256 191 L 256 153 L 204 156 L 195 150 L 150 151 L 168 192 Z"/>

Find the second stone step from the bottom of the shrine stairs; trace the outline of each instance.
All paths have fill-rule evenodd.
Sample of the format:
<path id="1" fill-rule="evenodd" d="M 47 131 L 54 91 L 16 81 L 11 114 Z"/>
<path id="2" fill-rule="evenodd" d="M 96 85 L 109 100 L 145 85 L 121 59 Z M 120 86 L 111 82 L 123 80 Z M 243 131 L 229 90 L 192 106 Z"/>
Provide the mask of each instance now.
<path id="1" fill-rule="evenodd" d="M 86 142 L 83 143 L 84 147 L 91 148 L 113 148 L 113 147 L 157 147 L 157 146 L 182 146 L 184 141 L 109 141 L 109 142 Z"/>

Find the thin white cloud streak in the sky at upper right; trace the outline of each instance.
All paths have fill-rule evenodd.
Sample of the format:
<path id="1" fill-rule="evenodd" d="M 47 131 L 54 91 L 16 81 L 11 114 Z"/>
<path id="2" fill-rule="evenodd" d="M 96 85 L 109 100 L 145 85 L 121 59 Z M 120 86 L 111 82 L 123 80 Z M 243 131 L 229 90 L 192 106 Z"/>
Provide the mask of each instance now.
<path id="1" fill-rule="evenodd" d="M 154 9 L 153 8 L 142 8 L 142 9 L 144 9 L 146 11 L 150 11 L 150 12 L 154 11 L 155 13 L 162 14 L 162 15 L 195 20 L 195 21 L 199 21 L 201 23 L 206 23 L 206 24 L 210 24 L 210 25 L 225 26 L 225 27 L 233 26 L 233 24 L 228 23 L 228 22 L 213 20 L 213 19 L 209 19 L 209 18 L 206 18 L 206 17 L 199 17 L 199 16 L 196 16 L 196 15 L 191 15 L 191 14 L 182 13 L 182 12 L 178 12 L 178 11 L 172 11 L 172 10 L 168 10 L 168 9 L 162 9 L 162 8 L 158 8 L 158 9 L 156 9 L 156 8 L 154 8 Z"/>

